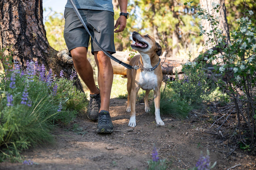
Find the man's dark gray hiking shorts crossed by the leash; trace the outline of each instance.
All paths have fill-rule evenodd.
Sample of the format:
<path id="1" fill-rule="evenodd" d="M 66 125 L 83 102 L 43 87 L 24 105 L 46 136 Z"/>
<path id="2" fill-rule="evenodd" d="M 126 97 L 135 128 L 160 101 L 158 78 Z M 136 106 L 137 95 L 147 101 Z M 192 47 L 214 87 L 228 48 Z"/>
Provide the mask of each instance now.
<path id="1" fill-rule="evenodd" d="M 103 49 L 115 53 L 114 45 L 114 13 L 111 11 L 97 11 L 90 9 L 79 9 L 90 34 L 99 42 Z M 73 8 L 65 8 L 64 39 L 68 50 L 76 47 L 86 47 L 90 41 L 90 35 L 77 17 Z M 91 40 L 92 53 L 102 51 L 93 40 Z"/>

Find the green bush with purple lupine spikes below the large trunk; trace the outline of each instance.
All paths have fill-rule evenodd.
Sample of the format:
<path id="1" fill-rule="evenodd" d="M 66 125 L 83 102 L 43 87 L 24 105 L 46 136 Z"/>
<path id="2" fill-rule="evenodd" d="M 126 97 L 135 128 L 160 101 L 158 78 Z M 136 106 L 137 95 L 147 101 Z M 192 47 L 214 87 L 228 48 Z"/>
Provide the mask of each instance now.
<path id="1" fill-rule="evenodd" d="M 6 65 L 0 75 L 0 161 L 15 161 L 30 146 L 52 144 L 52 127 L 73 121 L 86 106 L 86 94 L 36 62 L 27 62 L 26 70 Z"/>

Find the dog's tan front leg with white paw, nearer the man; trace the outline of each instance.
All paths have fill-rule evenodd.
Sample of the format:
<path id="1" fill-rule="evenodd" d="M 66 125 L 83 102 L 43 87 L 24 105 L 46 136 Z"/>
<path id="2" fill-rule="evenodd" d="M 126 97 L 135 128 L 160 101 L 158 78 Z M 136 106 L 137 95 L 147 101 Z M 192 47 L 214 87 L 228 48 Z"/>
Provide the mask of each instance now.
<path id="1" fill-rule="evenodd" d="M 137 90 L 138 89 L 138 90 Z M 131 117 L 128 126 L 135 127 L 136 126 L 136 112 L 135 112 L 135 106 L 136 106 L 136 95 L 137 91 L 139 91 L 140 88 L 132 88 L 131 89 L 131 95 L 130 95 L 130 104 L 131 104 Z"/>

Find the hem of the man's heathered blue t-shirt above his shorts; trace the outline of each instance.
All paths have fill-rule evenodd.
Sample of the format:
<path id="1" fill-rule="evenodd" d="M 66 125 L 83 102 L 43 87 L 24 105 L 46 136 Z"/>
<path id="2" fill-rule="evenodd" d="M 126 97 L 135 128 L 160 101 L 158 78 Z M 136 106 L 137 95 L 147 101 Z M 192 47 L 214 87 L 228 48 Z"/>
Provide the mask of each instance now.
<path id="1" fill-rule="evenodd" d="M 78 9 L 91 9 L 91 10 L 103 10 L 111 11 L 113 10 L 112 0 L 73 0 Z M 70 0 L 67 0 L 66 8 L 73 8 Z"/>

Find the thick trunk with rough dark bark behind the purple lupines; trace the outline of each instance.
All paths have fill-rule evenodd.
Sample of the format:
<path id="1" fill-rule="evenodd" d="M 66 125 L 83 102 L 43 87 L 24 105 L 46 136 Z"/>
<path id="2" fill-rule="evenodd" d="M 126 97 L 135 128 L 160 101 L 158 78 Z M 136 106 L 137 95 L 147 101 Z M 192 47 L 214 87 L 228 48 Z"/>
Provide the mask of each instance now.
<path id="1" fill-rule="evenodd" d="M 12 53 L 26 67 L 27 60 L 44 64 L 52 73 L 59 76 L 61 70 L 64 77 L 72 73 L 73 62 L 57 57 L 46 38 L 43 23 L 42 0 L 0 0 L 0 49 L 4 49 L 3 57 Z M 0 58 L 3 62 L 3 57 Z M 76 87 L 82 90 L 81 82 L 76 77 Z"/>

